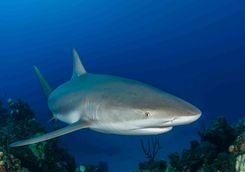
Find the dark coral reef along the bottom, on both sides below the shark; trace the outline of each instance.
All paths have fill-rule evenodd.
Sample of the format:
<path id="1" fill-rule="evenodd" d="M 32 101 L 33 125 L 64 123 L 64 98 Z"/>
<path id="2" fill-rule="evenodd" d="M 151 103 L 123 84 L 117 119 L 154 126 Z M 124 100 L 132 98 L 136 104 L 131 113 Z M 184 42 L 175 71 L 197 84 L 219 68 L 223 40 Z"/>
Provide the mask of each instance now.
<path id="1" fill-rule="evenodd" d="M 45 133 L 27 103 L 8 100 L 0 102 L 0 172 L 108 172 L 107 162 L 76 164 L 73 156 L 53 139 L 29 146 L 10 148 L 17 140 Z M 55 130 L 57 127 L 53 125 Z M 145 157 L 138 169 L 131 172 L 245 172 L 245 120 L 231 126 L 224 117 L 198 131 L 200 141 L 173 152 L 166 160 L 156 155 L 162 148 L 158 137 L 141 140 Z"/>

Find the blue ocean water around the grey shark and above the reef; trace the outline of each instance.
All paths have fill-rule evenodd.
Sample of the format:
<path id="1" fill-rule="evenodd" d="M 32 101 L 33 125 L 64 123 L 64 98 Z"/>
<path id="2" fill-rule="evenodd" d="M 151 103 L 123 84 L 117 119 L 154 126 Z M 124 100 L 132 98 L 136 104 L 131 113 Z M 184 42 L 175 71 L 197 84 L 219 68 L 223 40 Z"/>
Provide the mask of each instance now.
<path id="1" fill-rule="evenodd" d="M 202 110 L 196 123 L 160 136 L 159 158 L 197 138 L 203 122 L 244 117 L 245 1 L 1 1 L 0 96 L 27 101 L 48 128 L 32 65 L 56 87 L 70 79 L 73 47 L 88 72 L 140 80 Z M 78 164 L 104 160 L 127 172 L 145 158 L 140 138 L 82 130 L 61 140 Z"/>

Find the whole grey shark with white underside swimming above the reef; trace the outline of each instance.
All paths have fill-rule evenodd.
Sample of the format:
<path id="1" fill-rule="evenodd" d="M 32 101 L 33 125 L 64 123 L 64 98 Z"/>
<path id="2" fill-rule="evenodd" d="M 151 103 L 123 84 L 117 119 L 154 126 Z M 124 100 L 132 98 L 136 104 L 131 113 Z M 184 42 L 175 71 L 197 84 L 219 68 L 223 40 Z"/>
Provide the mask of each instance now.
<path id="1" fill-rule="evenodd" d="M 52 91 L 37 67 L 37 78 L 53 118 L 67 127 L 10 146 L 52 139 L 82 128 L 121 135 L 153 135 L 189 124 L 201 111 L 186 101 L 139 81 L 87 73 L 73 49 L 71 80 Z"/>

